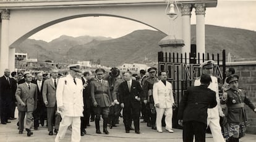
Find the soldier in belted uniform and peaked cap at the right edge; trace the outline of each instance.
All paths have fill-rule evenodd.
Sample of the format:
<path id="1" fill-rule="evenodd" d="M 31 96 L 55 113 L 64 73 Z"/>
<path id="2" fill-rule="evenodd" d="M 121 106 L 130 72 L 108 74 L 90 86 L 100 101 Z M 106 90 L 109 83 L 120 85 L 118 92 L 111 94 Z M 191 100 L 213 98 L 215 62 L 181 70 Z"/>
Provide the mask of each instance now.
<path id="1" fill-rule="evenodd" d="M 228 106 L 228 142 L 238 142 L 239 138 L 245 135 L 247 118 L 244 105 L 256 112 L 256 108 L 247 97 L 245 90 L 238 87 L 238 79 L 239 76 L 235 74 L 226 79 L 230 89 L 223 93 L 223 98 L 220 101 L 221 104 Z"/>

